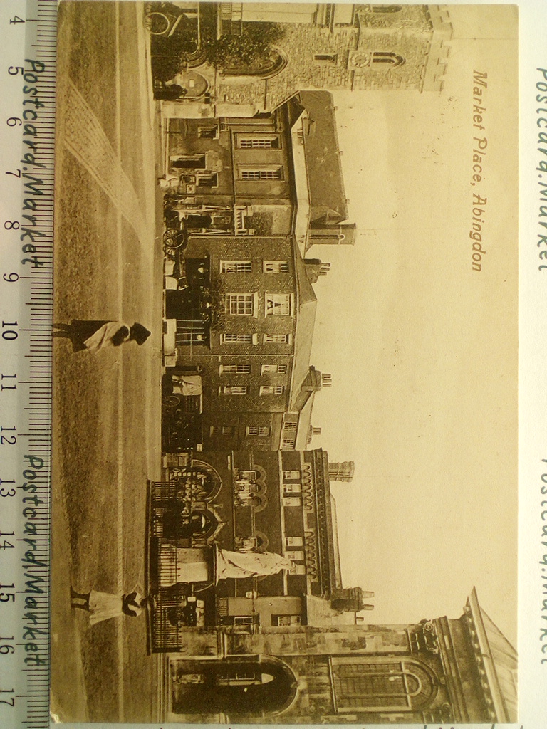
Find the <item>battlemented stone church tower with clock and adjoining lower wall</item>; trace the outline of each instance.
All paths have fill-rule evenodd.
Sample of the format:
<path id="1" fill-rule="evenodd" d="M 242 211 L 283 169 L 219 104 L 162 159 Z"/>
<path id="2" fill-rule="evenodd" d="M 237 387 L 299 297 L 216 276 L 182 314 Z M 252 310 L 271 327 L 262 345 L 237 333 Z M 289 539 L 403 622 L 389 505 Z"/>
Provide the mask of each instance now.
<path id="1" fill-rule="evenodd" d="M 442 88 L 452 29 L 438 5 L 217 6 L 217 35 L 242 34 L 252 23 L 264 22 L 278 23 L 284 31 L 267 59 L 216 69 L 204 62 L 184 71 L 175 81 L 185 98 L 165 102 L 166 115 L 254 117 L 306 89 Z"/>

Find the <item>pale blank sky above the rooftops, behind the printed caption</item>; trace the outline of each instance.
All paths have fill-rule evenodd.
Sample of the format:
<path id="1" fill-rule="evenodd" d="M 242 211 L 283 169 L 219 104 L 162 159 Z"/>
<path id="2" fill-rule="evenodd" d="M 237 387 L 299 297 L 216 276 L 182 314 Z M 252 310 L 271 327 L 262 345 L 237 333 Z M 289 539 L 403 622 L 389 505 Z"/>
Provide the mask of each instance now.
<path id="1" fill-rule="evenodd" d="M 459 617 L 475 586 L 516 644 L 516 10 L 449 12 L 441 93 L 335 93 L 358 235 L 309 254 L 332 264 L 311 362 L 333 387 L 315 398 L 311 447 L 355 461 L 332 491 L 344 585 L 376 593 L 369 622 Z M 485 130 L 473 71 L 487 74 Z M 481 272 L 473 192 L 487 200 Z"/>

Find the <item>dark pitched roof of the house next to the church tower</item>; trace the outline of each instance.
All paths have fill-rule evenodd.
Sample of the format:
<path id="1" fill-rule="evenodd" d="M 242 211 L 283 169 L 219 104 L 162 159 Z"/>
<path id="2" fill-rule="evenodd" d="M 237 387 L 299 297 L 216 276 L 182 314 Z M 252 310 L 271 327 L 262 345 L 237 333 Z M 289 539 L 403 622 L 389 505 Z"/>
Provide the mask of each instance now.
<path id="1" fill-rule="evenodd" d="M 304 124 L 304 150 L 310 192 L 310 225 L 337 223 L 348 217 L 346 190 L 333 95 L 329 91 L 300 91 L 308 113 Z"/>

